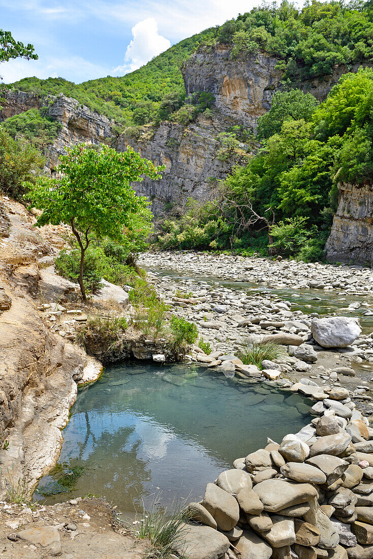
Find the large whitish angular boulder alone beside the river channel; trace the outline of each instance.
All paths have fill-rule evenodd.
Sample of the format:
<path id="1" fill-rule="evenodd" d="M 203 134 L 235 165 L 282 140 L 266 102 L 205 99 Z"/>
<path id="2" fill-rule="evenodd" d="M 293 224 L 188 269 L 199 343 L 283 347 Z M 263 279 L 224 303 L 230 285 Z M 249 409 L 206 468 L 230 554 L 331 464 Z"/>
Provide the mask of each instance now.
<path id="1" fill-rule="evenodd" d="M 311 324 L 314 340 L 324 348 L 345 348 L 361 334 L 356 319 L 347 316 L 329 316 L 314 319 Z"/>

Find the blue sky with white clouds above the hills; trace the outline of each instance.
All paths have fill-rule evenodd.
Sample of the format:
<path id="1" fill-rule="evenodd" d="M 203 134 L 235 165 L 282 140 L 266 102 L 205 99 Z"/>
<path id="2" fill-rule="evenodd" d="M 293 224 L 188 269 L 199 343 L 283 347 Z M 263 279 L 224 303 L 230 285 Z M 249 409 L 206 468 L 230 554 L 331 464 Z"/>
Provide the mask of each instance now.
<path id="1" fill-rule="evenodd" d="M 190 35 L 260 0 L 0 0 L 0 29 L 39 60 L 0 65 L 3 82 L 35 75 L 75 83 L 124 75 Z"/>

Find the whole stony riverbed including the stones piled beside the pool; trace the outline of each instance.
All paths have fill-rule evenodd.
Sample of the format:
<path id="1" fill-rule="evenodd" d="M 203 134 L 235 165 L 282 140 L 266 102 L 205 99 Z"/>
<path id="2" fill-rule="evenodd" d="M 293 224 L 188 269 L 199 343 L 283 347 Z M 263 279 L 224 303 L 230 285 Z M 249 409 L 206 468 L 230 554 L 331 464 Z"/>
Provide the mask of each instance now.
<path id="1" fill-rule="evenodd" d="M 141 260 L 153 268 L 149 276 L 174 312 L 195 322 L 213 345 L 209 355 L 194 347 L 191 361 L 248 383 L 266 377 L 272 381 L 265 382 L 315 401 L 315 418 L 299 433 L 282 441 L 268 438 L 265 448 L 237 458 L 232 470 L 207 484 L 203 500 L 190 504 L 199 524 L 186 527 L 184 551 L 194 559 L 371 559 L 373 429 L 366 414 L 372 413 L 373 333 L 362 334 L 353 316 L 360 305 L 347 307 L 347 316 L 320 318 L 317 312 L 293 310 L 271 293 L 247 296 L 218 282 L 176 282 L 158 271 L 167 267 L 252 282 L 247 260 L 194 254 L 149 254 Z M 267 285 L 281 276 L 280 266 L 288 269 L 281 287 L 354 292 L 362 295 L 367 310 L 371 307 L 366 302 L 373 285 L 369 269 L 252 262 Z M 262 371 L 245 366 L 234 356 L 243 336 L 276 341 L 287 348 L 286 357 L 263 362 Z"/>

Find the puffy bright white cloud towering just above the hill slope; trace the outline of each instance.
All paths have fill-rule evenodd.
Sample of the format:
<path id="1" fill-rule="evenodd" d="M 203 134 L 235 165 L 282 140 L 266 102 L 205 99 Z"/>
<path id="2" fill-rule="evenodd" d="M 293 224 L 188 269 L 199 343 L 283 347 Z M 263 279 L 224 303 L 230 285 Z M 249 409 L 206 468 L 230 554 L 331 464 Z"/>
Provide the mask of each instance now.
<path id="1" fill-rule="evenodd" d="M 133 39 L 127 47 L 124 64 L 112 70 L 115 74 L 133 72 L 171 46 L 168 39 L 158 35 L 158 25 L 154 17 L 136 23 L 132 28 L 132 35 Z"/>

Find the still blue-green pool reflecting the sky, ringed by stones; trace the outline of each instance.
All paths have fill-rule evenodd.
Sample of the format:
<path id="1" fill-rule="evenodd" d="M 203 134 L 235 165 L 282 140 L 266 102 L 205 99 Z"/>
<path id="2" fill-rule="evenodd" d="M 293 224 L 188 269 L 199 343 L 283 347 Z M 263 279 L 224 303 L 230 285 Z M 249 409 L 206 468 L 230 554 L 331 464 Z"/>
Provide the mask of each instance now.
<path id="1" fill-rule="evenodd" d="M 200 366 L 125 364 L 79 391 L 59 465 L 39 484 L 47 504 L 105 495 L 134 504 L 199 500 L 234 459 L 310 421 L 310 401 Z M 159 493 L 161 495 L 159 496 Z"/>

